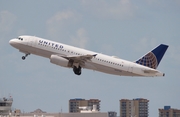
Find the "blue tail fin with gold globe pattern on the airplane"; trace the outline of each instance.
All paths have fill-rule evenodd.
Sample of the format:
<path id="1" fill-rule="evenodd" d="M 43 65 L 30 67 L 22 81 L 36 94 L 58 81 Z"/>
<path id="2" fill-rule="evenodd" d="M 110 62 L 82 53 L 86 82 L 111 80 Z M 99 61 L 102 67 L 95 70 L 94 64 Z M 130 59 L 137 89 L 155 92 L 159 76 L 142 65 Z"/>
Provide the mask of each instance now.
<path id="1" fill-rule="evenodd" d="M 168 45 L 161 44 L 136 61 L 137 64 L 156 69 L 163 58 Z"/>

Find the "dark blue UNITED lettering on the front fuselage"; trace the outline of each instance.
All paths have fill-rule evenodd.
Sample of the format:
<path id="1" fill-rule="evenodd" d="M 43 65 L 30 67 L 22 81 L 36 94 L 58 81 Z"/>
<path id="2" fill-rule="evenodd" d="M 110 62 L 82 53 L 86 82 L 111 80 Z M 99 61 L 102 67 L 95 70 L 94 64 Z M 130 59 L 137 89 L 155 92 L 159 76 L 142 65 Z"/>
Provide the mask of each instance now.
<path id="1" fill-rule="evenodd" d="M 45 46 L 51 46 L 53 48 L 59 48 L 59 49 L 63 48 L 63 46 L 60 45 L 60 44 L 57 44 L 57 43 L 54 43 L 54 42 L 48 42 L 48 41 L 45 41 L 45 40 L 39 40 L 39 44 L 42 44 L 42 45 L 45 45 Z"/>

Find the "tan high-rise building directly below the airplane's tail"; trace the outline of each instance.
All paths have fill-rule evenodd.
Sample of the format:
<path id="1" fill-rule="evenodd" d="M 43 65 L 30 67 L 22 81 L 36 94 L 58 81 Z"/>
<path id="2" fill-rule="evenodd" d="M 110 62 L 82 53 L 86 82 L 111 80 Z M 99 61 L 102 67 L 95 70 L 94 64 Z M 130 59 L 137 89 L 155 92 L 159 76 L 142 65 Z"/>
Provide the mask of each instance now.
<path id="1" fill-rule="evenodd" d="M 143 98 L 120 100 L 120 117 L 148 117 L 148 102 Z"/>

